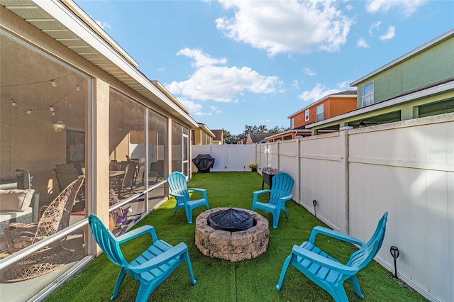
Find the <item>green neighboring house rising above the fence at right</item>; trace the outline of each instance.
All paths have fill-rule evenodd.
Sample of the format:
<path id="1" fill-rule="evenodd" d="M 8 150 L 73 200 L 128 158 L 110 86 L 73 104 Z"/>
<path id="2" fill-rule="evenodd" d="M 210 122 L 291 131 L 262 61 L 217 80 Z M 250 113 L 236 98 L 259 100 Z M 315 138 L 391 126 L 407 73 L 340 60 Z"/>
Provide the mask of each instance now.
<path id="1" fill-rule="evenodd" d="M 312 133 L 345 126 L 405 121 L 454 112 L 454 30 L 351 83 L 357 109 L 306 128 Z"/>

